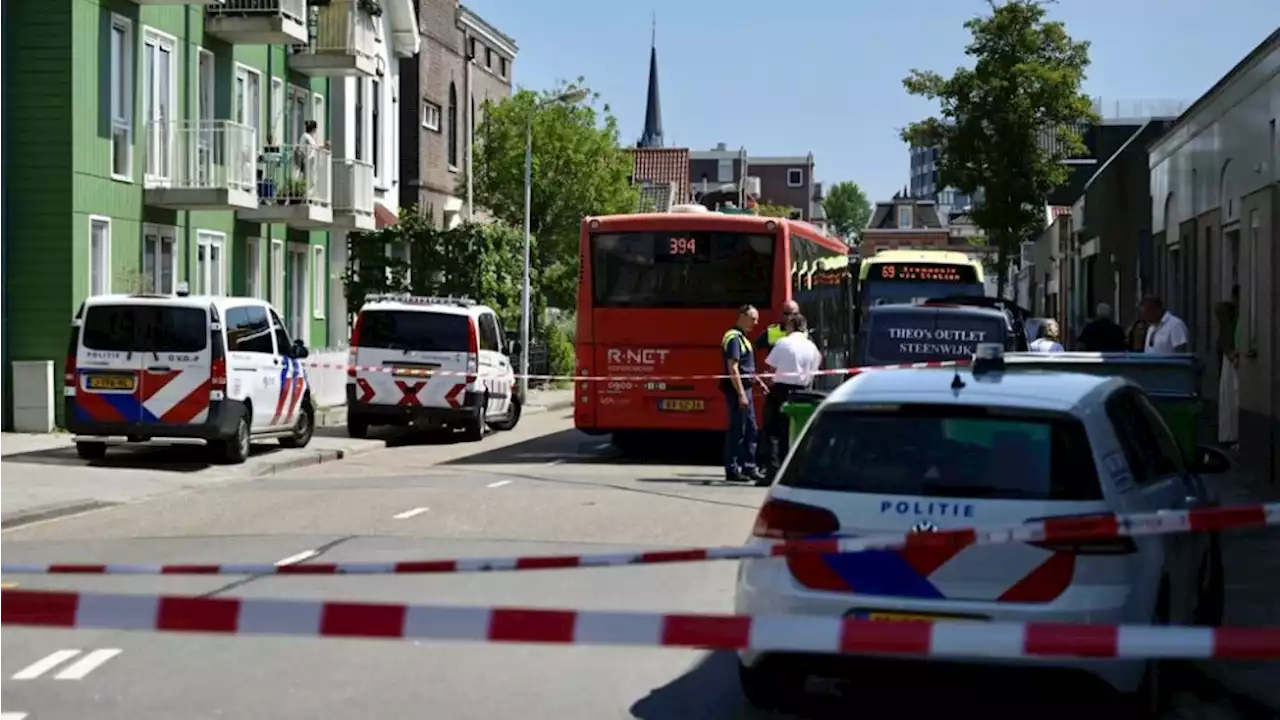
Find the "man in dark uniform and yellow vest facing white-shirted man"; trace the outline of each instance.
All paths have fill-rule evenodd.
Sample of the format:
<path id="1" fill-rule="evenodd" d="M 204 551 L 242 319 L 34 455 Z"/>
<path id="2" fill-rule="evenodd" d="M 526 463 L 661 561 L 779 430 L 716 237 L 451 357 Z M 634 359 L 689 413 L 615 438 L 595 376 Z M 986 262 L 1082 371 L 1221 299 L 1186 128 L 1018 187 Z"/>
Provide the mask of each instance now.
<path id="1" fill-rule="evenodd" d="M 721 338 L 724 357 L 724 378 L 721 391 L 728 406 L 728 428 L 724 433 L 724 479 L 727 482 L 756 482 L 762 474 L 755 464 L 755 404 L 751 383 L 755 377 L 755 348 L 746 333 L 760 322 L 760 313 L 751 305 L 737 310 L 737 320 Z"/>

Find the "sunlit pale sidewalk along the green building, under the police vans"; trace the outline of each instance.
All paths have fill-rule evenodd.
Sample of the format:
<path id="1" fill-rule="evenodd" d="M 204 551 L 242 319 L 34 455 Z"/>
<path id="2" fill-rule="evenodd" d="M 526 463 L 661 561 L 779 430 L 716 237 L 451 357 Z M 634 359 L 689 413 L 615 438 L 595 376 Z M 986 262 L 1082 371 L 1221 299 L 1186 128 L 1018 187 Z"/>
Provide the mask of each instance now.
<path id="1" fill-rule="evenodd" d="M 573 405 L 573 391 L 531 391 L 529 400 L 525 413 L 530 415 L 564 410 Z M 210 465 L 201 448 L 192 446 L 125 447 L 109 452 L 106 460 L 86 462 L 76 455 L 69 433 L 0 433 L 0 530 L 387 447 L 385 439 L 346 437 L 339 429 L 346 424 L 346 407 L 324 409 L 316 420 L 317 427 L 332 429 L 317 432 L 306 448 L 285 450 L 274 441 L 255 445 L 243 465 Z"/>

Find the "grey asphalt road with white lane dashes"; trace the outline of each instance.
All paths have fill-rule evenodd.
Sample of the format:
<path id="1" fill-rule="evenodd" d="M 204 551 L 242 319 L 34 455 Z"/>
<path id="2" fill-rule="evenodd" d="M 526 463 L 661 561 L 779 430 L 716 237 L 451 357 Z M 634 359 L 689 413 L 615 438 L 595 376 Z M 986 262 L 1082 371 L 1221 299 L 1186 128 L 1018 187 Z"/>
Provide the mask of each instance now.
<path id="1" fill-rule="evenodd" d="M 626 461 L 567 415 L 481 443 L 407 438 L 256 482 L 0 533 L 14 562 L 408 560 L 735 544 L 764 495 L 721 482 L 716 448 Z M 305 561 L 305 560 L 303 560 Z M 6 578 L 23 588 L 726 612 L 735 564 L 493 575 Z M 879 664 L 817 683 L 796 717 L 1107 716 L 1060 679 Z M 1170 717 L 1240 717 L 1180 680 Z M 995 698 L 995 700 L 993 700 Z M 1014 698 L 1014 700 L 1010 700 Z M 10 712 L 13 715 L 5 715 Z M 26 715 L 23 715 L 26 714 Z M 0 720 L 224 717 L 769 717 L 724 653 L 4 629 Z"/>

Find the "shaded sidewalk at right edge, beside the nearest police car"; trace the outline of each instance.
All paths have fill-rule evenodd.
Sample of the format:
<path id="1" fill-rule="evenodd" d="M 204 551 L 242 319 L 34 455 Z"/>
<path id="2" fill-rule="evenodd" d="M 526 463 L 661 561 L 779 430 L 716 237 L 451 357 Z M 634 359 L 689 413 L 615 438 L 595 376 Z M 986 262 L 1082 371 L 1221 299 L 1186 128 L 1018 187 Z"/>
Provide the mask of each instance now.
<path id="1" fill-rule="evenodd" d="M 1217 484 L 1224 505 L 1274 502 L 1263 482 L 1239 471 Z M 1222 532 L 1228 626 L 1280 626 L 1280 527 Z M 1224 689 L 1280 714 L 1280 660 L 1204 662 Z M 1263 708 L 1256 708 L 1258 711 Z"/>

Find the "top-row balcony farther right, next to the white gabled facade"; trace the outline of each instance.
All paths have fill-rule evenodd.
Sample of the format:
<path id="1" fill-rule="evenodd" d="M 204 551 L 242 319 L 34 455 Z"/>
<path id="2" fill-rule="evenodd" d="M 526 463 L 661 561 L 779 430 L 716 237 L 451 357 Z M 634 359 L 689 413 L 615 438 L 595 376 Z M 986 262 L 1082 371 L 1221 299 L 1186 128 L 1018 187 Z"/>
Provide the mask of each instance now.
<path id="1" fill-rule="evenodd" d="M 380 14 L 374 0 L 330 0 L 315 8 L 311 41 L 291 50 L 289 68 L 311 77 L 372 77 Z"/>

